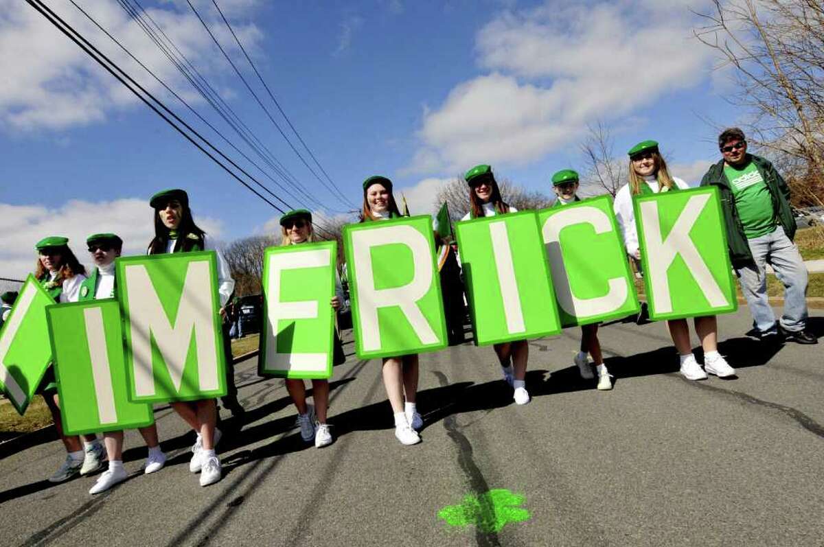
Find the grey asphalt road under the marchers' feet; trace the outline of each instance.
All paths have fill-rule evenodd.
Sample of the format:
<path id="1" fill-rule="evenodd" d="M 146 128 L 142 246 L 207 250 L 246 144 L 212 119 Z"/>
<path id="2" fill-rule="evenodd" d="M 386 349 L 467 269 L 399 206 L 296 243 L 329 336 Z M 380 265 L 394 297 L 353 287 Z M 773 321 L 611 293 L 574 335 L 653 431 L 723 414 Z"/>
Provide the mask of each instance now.
<path id="1" fill-rule="evenodd" d="M 423 355 L 417 446 L 392 434 L 378 362 L 335 368 L 336 439 L 318 450 L 300 440 L 283 381 L 247 361 L 237 380 L 249 412 L 218 446 L 220 483 L 199 486 L 193 434 L 157 409 L 169 464 L 140 475 L 145 449 L 129 432 L 133 476 L 96 497 L 94 478 L 44 481 L 59 442 L 0 455 L 0 544 L 822 545 L 824 344 L 767 352 L 744 337 L 749 321 L 746 307 L 719 318 L 739 377 L 700 382 L 677 375 L 662 324 L 604 326 L 609 392 L 571 366 L 577 329 L 532 341 L 524 407 L 491 348 Z M 824 334 L 821 312 L 811 327 Z M 485 533 L 438 517 L 490 489 L 521 494 L 528 520 Z"/>

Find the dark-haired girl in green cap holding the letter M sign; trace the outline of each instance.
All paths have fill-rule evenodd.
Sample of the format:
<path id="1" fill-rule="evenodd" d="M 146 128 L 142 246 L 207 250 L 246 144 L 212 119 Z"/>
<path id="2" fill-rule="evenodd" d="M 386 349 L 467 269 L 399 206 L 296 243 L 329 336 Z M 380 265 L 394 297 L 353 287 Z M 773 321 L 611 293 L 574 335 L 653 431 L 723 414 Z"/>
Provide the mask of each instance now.
<path id="1" fill-rule="evenodd" d="M 199 250 L 213 250 L 218 255 L 218 292 L 220 294 L 221 314 L 223 306 L 232 296 L 235 282 L 229 274 L 229 267 L 222 253 L 215 249 L 206 233 L 194 223 L 189 208 L 189 195 L 181 189 L 169 189 L 152 196 L 149 204 L 154 208 L 155 236 L 149 244 L 149 255 L 163 253 L 186 253 Z M 221 478 L 220 460 L 214 447 L 220 441 L 221 432 L 215 427 L 218 411 L 213 399 L 195 401 L 176 401 L 171 407 L 180 414 L 194 432 L 197 440 L 192 446 L 192 459 L 189 470 L 200 471 L 200 485 L 208 486 Z"/>

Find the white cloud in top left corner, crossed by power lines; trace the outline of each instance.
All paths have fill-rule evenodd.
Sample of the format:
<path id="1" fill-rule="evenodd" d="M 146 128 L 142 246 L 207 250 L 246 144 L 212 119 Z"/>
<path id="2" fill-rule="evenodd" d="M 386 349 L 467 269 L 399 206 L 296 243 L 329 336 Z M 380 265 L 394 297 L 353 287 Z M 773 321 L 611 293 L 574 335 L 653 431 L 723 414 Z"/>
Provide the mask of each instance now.
<path id="1" fill-rule="evenodd" d="M 87 12 L 123 43 L 137 58 L 187 101 L 199 101 L 196 92 L 149 40 L 138 24 L 115 2 L 88 2 Z M 228 2 L 227 17 L 250 7 L 251 0 Z M 168 100 L 162 87 L 139 68 L 69 2 L 50 2 L 53 11 L 73 26 L 87 40 L 160 98 Z M 188 10 L 188 7 L 186 8 Z M 191 12 L 176 8 L 150 8 L 147 12 L 157 21 L 177 47 L 213 85 L 222 90 L 222 74 L 231 68 L 222 59 L 211 38 Z M 214 11 L 206 18 L 223 47 L 235 52 L 236 44 Z M 262 33 L 253 24 L 233 24 L 238 37 L 251 52 L 257 50 Z M 33 8 L 17 0 L 0 0 L 0 126 L 10 130 L 63 129 L 92 124 L 106 119 L 117 110 L 138 103 L 114 77 L 73 44 Z M 214 79 L 217 78 L 217 79 Z M 222 90 L 223 91 L 223 90 Z M 173 105 L 173 103 L 169 103 Z"/>

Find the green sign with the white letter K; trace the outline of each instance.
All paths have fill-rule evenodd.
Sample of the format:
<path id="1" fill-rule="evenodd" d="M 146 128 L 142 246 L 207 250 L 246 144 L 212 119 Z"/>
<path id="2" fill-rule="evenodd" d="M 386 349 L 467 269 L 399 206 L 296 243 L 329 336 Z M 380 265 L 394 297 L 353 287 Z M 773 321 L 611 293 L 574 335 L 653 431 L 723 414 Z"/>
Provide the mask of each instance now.
<path id="1" fill-rule="evenodd" d="M 718 189 L 642 196 L 634 209 L 651 319 L 737 309 Z"/>

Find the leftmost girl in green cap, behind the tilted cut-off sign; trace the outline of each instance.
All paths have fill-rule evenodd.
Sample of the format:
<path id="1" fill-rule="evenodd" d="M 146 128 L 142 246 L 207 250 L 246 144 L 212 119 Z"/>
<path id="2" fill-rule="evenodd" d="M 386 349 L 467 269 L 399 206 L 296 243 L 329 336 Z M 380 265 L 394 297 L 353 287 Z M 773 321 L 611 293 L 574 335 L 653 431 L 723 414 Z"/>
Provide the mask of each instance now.
<path id="1" fill-rule="evenodd" d="M 35 249 L 38 252 L 35 265 L 35 278 L 40 285 L 54 298 L 54 302 L 77 302 L 80 287 L 86 279 L 86 269 L 77 261 L 71 249 L 68 248 L 68 238 L 50 236 L 37 242 Z M 103 446 L 96 435 L 83 435 L 81 444 L 77 435 L 63 435 L 63 420 L 60 416 L 60 401 L 57 393 L 57 381 L 54 378 L 54 368 L 49 365 L 40 382 L 38 389 L 46 406 L 49 407 L 54 427 L 60 435 L 68 455 L 66 461 L 54 475 L 49 477 L 53 483 L 62 483 L 78 473 L 89 475 L 101 469 L 103 465 Z"/>

